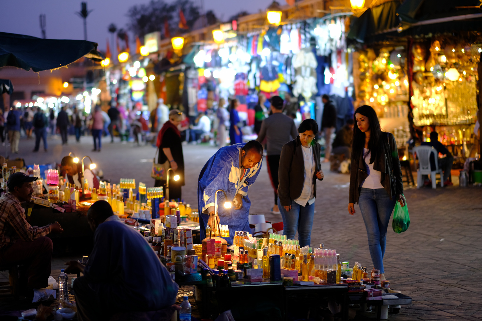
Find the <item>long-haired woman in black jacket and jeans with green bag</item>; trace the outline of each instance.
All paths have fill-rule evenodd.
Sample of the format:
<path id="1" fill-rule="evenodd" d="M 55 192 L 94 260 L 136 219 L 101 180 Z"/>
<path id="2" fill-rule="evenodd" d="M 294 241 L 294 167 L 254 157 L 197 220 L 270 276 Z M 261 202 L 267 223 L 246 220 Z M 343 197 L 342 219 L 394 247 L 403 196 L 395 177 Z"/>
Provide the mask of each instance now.
<path id="1" fill-rule="evenodd" d="M 372 107 L 364 105 L 355 111 L 348 213 L 355 214 L 354 204 L 362 211 L 368 234 L 368 246 L 373 265 L 385 279 L 383 256 L 387 244 L 390 216 L 403 196 L 402 171 L 397 144 L 391 133 L 380 130 Z"/>

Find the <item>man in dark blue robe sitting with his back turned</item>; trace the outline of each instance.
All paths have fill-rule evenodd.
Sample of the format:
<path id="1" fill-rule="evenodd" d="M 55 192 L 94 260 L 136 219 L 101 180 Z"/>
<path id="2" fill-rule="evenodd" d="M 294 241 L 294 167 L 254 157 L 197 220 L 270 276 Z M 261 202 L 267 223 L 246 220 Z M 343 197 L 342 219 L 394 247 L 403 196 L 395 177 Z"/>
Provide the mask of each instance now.
<path id="1" fill-rule="evenodd" d="M 114 215 L 106 201 L 87 212 L 94 249 L 83 266 L 70 261 L 66 273 L 83 272 L 74 282 L 80 321 L 109 320 L 119 312 L 171 307 L 177 284 L 142 235 Z"/>

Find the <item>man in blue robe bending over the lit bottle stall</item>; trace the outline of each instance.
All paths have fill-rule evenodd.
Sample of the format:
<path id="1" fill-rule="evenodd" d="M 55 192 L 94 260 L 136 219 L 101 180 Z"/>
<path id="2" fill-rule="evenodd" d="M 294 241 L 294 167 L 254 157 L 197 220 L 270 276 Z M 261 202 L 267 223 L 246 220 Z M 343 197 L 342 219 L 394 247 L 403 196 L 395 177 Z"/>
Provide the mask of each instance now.
<path id="1" fill-rule="evenodd" d="M 234 231 L 251 231 L 248 215 L 251 202 L 248 189 L 256 180 L 261 169 L 263 146 L 258 141 L 248 141 L 221 147 L 202 167 L 198 180 L 198 205 L 201 240 L 206 237 L 206 224 L 214 229 L 214 193 L 217 190 L 217 204 L 231 202 L 231 208 L 218 206 L 219 224 L 229 227 L 228 244 L 233 243 Z"/>

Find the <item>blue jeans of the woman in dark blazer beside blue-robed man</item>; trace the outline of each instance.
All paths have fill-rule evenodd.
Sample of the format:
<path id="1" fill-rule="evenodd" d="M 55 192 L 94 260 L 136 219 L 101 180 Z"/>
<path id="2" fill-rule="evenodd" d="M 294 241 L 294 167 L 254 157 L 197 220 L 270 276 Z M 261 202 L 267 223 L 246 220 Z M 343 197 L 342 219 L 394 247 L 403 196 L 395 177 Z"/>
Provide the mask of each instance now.
<path id="1" fill-rule="evenodd" d="M 298 229 L 298 240 L 300 247 L 310 245 L 311 227 L 313 226 L 313 216 L 315 214 L 315 203 L 308 206 L 301 206 L 295 201 L 291 202 L 291 209 L 286 212 L 281 206 L 278 197 L 278 208 L 283 218 L 283 235 L 289 240 L 295 239 L 296 229 Z"/>

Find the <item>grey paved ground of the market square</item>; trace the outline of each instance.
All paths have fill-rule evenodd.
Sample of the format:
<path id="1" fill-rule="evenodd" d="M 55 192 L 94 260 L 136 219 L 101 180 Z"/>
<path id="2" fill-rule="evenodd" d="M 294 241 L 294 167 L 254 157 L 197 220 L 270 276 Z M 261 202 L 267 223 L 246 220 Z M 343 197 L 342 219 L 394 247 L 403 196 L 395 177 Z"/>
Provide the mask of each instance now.
<path id="1" fill-rule="evenodd" d="M 142 181 L 153 186 L 149 173 L 155 149 L 151 146 L 133 147 L 132 143 L 118 141 L 110 144 L 106 139 L 102 152 L 94 153 L 90 137 L 82 138 L 79 144 L 70 137 L 67 146 L 62 146 L 59 138 L 49 138 L 49 144 L 49 153 L 34 154 L 31 153 L 33 141 L 22 140 L 18 156 L 25 158 L 27 164 L 42 164 L 60 162 L 69 152 L 77 156 L 90 155 L 103 169 L 105 178 L 114 182 L 120 178 L 135 178 L 136 183 Z M 183 197 L 192 207 L 197 207 L 199 171 L 215 150 L 205 145 L 184 146 L 187 171 Z M 347 211 L 348 175 L 325 170 L 325 180 L 319 183 L 318 193 L 311 244 L 324 243 L 325 248 L 336 249 L 342 260 L 350 261 L 350 266 L 358 261 L 371 269 L 360 210 L 356 206 L 355 216 Z M 389 229 L 385 272 L 391 287 L 412 296 L 413 304 L 403 306 L 401 313 L 390 315 L 389 320 L 482 319 L 481 195 L 480 188 L 457 186 L 405 191 L 411 225 L 402 234 Z M 268 214 L 274 197 L 266 167 L 249 196 L 252 214 L 265 214 L 272 222 L 281 221 L 281 216 Z M 58 275 L 61 263 L 68 259 L 54 259 L 52 275 Z M 373 314 L 357 316 L 360 320 L 365 317 L 373 317 Z"/>

